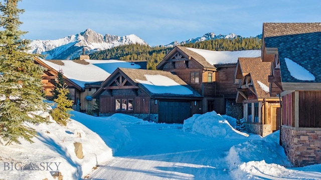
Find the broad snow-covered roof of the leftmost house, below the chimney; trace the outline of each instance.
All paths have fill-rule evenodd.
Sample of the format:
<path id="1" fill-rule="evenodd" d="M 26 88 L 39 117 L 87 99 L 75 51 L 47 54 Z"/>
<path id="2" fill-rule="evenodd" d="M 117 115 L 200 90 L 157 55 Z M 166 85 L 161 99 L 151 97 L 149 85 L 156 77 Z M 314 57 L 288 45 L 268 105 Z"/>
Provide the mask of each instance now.
<path id="1" fill-rule="evenodd" d="M 138 64 L 113 59 L 85 59 L 84 61 L 87 63 L 78 63 L 74 60 L 60 60 L 63 62 L 63 65 L 54 63 L 52 60 L 39 59 L 57 71 L 61 69 L 64 76 L 81 87 L 84 87 L 86 83 L 104 81 L 117 67 L 140 68 Z"/>

